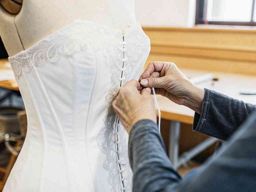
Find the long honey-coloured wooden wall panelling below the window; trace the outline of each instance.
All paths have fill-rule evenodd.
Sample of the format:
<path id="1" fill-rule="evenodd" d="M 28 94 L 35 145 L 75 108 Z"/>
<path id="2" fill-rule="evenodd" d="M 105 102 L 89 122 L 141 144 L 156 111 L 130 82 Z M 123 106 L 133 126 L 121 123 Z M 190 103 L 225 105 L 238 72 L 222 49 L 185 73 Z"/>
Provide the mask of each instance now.
<path id="1" fill-rule="evenodd" d="M 256 30 L 143 27 L 151 40 L 148 61 L 179 68 L 256 74 Z"/>

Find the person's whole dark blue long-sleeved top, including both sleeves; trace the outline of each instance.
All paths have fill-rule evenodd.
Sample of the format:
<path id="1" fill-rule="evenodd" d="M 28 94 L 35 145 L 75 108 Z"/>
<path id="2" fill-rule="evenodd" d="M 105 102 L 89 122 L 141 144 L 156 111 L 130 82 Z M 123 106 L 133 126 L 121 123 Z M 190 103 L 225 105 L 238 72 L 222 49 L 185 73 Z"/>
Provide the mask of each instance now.
<path id="1" fill-rule="evenodd" d="M 256 191 L 256 106 L 205 89 L 193 130 L 227 140 L 216 155 L 183 179 L 166 154 L 157 125 L 138 121 L 129 137 L 133 191 Z"/>

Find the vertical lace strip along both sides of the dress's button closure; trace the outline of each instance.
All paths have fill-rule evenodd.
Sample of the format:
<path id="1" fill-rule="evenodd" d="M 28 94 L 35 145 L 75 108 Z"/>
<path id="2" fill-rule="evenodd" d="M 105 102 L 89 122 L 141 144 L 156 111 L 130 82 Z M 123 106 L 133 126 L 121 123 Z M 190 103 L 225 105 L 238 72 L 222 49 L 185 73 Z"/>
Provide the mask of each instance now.
<path id="1" fill-rule="evenodd" d="M 114 125 L 116 121 L 116 115 L 112 108 L 112 103 L 115 99 L 115 96 L 120 88 L 120 77 L 121 74 L 119 72 L 121 64 L 124 61 L 124 67 L 126 70 L 123 71 L 122 76 L 122 84 L 125 84 L 131 77 L 131 74 L 134 70 L 135 65 L 141 59 L 142 55 L 145 54 L 147 49 L 150 47 L 150 40 L 143 32 L 141 26 L 131 26 L 125 31 L 124 34 L 124 42 L 125 46 L 118 53 L 115 52 L 113 55 L 114 63 L 119 63 L 118 65 L 114 65 L 111 68 L 111 81 L 112 85 L 109 90 L 109 93 L 106 95 L 106 102 L 108 102 L 108 114 L 104 118 L 104 127 L 101 129 L 98 135 L 98 146 L 106 154 L 106 160 L 104 162 L 104 168 L 109 170 L 109 183 L 112 184 L 112 191 L 131 191 L 132 190 L 132 171 L 129 164 L 128 151 L 126 145 L 126 131 L 123 125 L 120 123 L 120 128 L 118 132 L 115 133 Z M 122 43 L 122 42 L 121 42 Z M 123 58 L 123 52 L 125 53 L 125 58 Z M 123 60 L 124 59 L 124 60 Z M 119 83 L 117 83 L 119 82 Z M 119 135 L 118 139 L 118 150 L 119 159 L 116 156 L 116 138 L 115 134 Z M 122 162 L 122 167 L 118 167 L 116 164 L 116 159 Z M 124 187 L 120 188 L 120 185 L 116 185 L 119 180 L 119 175 L 116 174 L 116 170 L 121 169 L 121 180 L 123 180 Z"/>

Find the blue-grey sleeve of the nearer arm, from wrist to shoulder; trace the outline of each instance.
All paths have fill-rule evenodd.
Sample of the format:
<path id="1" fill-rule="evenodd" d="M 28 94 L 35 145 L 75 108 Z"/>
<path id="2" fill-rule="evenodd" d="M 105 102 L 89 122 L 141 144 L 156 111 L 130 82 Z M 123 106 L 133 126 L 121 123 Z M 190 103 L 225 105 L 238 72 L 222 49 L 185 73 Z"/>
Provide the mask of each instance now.
<path id="1" fill-rule="evenodd" d="M 166 155 L 156 123 L 138 121 L 129 137 L 134 192 L 254 192 L 256 113 L 204 165 L 183 179 Z"/>

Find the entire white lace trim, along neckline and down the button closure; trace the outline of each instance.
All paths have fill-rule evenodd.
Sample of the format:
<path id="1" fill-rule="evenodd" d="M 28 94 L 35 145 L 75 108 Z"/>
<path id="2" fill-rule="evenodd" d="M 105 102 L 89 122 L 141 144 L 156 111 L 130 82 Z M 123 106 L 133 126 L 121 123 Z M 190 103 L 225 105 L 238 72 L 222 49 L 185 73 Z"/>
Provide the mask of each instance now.
<path id="1" fill-rule="evenodd" d="M 103 167 L 109 171 L 108 183 L 112 186 L 112 192 L 132 191 L 132 171 L 126 145 L 127 133 L 121 123 L 118 130 L 114 128 L 116 115 L 112 109 L 112 102 L 120 88 L 120 81 L 125 84 L 130 79 L 135 65 L 150 47 L 150 40 L 139 23 L 125 29 L 124 39 L 125 42 L 122 42 L 122 32 L 119 30 L 89 21 L 76 21 L 16 56 L 9 57 L 15 78 L 19 80 L 22 73 L 29 73 L 33 67 L 40 67 L 46 63 L 54 64 L 61 55 L 72 55 L 77 51 L 86 50 L 88 45 L 93 46 L 95 51 L 102 51 L 106 65 L 111 69 L 111 87 L 105 97 L 108 112 L 104 117 L 104 127 L 100 130 L 97 142 L 100 150 L 106 155 Z"/>

